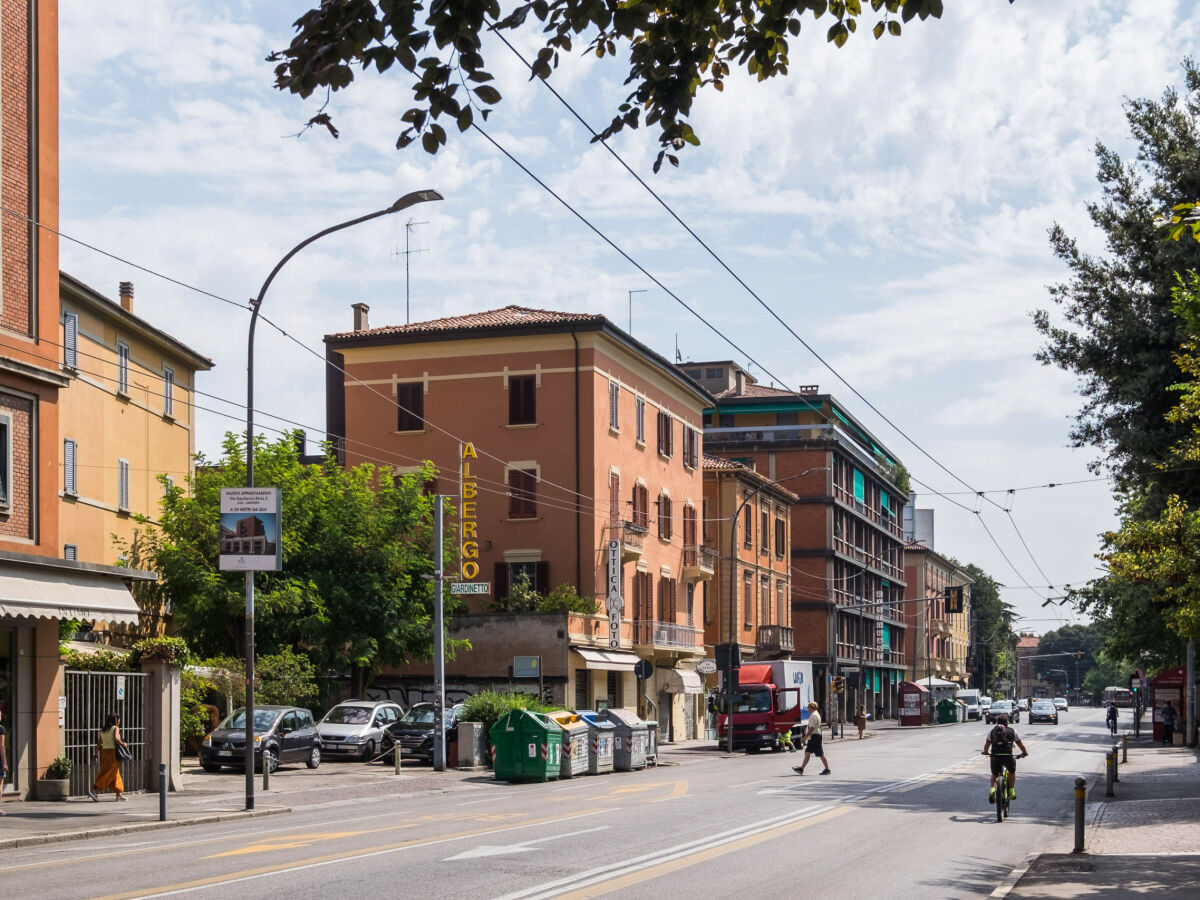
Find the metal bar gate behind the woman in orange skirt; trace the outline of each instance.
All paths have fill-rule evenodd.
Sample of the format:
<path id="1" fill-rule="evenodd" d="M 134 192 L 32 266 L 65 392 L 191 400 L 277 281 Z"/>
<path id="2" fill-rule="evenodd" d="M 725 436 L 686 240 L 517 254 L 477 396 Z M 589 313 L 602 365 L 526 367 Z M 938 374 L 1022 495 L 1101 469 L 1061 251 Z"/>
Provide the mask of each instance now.
<path id="1" fill-rule="evenodd" d="M 146 697 L 144 672 L 66 672 L 66 755 L 71 767 L 71 796 L 85 796 L 100 770 L 91 755 L 109 713 L 121 716 L 121 739 L 133 758 L 121 763 L 126 791 L 144 791 L 149 784 L 146 761 Z"/>

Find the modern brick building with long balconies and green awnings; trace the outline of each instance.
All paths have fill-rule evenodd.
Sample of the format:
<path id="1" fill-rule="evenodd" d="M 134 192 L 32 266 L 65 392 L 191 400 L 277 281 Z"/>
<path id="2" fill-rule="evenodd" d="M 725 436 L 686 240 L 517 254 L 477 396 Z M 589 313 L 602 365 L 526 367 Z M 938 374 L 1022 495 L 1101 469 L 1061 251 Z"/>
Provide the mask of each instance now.
<path id="1" fill-rule="evenodd" d="M 818 702 L 839 721 L 859 703 L 893 715 L 906 668 L 902 467 L 816 385 L 764 386 L 728 360 L 680 368 L 715 397 L 704 410 L 706 450 L 797 496 L 793 656 L 812 661 Z M 833 676 L 846 679 L 845 695 L 828 691 Z"/>

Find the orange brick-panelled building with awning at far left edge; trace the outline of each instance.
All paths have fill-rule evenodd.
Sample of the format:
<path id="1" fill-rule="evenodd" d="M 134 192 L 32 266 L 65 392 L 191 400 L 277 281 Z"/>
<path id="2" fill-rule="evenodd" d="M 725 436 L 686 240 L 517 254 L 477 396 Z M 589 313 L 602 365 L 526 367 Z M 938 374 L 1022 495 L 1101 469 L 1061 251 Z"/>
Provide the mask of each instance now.
<path id="1" fill-rule="evenodd" d="M 0 4 L 0 724 L 4 790 L 64 746 L 59 620 L 137 622 L 131 572 L 64 558 L 59 533 L 58 4 Z M 44 226 L 44 228 L 38 227 Z"/>

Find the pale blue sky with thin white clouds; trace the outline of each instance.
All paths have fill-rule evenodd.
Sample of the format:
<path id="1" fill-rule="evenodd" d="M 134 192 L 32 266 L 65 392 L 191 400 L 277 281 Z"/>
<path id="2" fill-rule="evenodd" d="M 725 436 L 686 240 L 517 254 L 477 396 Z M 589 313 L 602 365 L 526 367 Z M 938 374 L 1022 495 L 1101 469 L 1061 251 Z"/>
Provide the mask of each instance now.
<path id="1" fill-rule="evenodd" d="M 1034 359 L 1031 313 L 1069 276 L 1054 223 L 1104 252 L 1086 209 L 1097 143 L 1133 157 L 1123 103 L 1182 85 L 1200 4 L 947 4 L 841 49 L 828 18 L 805 19 L 786 77 L 734 73 L 701 96 L 702 143 L 679 168 L 652 174 L 646 130 L 611 142 L 720 262 L 496 42 L 504 101 L 485 127 L 546 187 L 475 133 L 451 131 L 436 157 L 396 150 L 398 67 L 329 98 L 338 139 L 304 131 L 325 97 L 277 91 L 265 56 L 305 8 L 60 0 L 61 266 L 113 299 L 132 281 L 137 314 L 212 359 L 198 450 L 245 427 L 239 305 L 278 259 L 433 188 L 443 202 L 331 235 L 275 280 L 263 314 L 286 335 L 260 326 L 254 350 L 264 430 L 323 438 L 322 338 L 352 329 L 352 304 L 372 326 L 509 304 L 600 312 L 667 359 L 833 394 L 911 472 L 935 548 L 1004 584 L 1018 628 L 1086 620 L 1044 604 L 1099 574 L 1114 502 L 1087 468 L 1100 451 L 1070 446 L 1078 384 Z M 535 37 L 517 46 L 530 55 Z M 568 55 L 552 78 L 596 130 L 624 98 L 622 60 Z"/>

